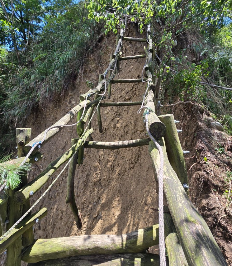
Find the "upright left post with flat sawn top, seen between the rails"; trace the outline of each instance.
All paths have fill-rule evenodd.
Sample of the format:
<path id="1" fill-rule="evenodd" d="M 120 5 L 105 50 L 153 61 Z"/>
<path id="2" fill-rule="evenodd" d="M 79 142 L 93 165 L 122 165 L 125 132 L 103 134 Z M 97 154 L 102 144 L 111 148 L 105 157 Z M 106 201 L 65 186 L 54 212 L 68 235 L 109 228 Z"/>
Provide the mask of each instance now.
<path id="1" fill-rule="evenodd" d="M 23 157 L 23 147 L 29 143 L 31 140 L 31 128 L 16 128 L 16 143 L 18 147 L 18 157 Z M 28 183 L 27 172 L 22 173 L 21 177 L 21 187 Z M 16 204 L 16 203 L 14 203 Z M 30 201 L 27 201 L 23 205 L 22 215 L 26 213 L 31 207 Z M 22 235 L 22 246 L 29 246 L 34 241 L 34 234 L 32 227 L 28 228 Z"/>

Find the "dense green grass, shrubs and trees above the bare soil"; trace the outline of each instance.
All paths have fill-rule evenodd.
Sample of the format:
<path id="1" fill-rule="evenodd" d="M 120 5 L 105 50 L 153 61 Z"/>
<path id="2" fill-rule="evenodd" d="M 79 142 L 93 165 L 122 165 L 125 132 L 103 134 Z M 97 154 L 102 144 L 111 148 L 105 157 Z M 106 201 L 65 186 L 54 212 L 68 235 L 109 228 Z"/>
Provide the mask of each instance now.
<path id="1" fill-rule="evenodd" d="M 141 32 L 152 23 L 170 101 L 198 101 L 230 130 L 231 91 L 200 81 L 232 87 L 231 16 L 231 1 L 0 0 L 1 151 L 33 108 L 77 79 L 101 29 L 116 33 L 125 17 Z"/>

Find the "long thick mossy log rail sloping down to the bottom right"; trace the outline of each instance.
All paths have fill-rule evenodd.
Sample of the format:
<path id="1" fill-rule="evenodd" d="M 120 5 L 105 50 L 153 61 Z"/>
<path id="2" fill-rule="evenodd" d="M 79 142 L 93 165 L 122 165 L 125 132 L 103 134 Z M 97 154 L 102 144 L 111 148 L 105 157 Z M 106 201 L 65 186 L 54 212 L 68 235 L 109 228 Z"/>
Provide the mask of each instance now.
<path id="1" fill-rule="evenodd" d="M 164 155 L 163 189 L 180 243 L 189 266 L 212 266 L 227 263 L 204 219 L 189 200 L 178 176 L 172 169 L 164 140 L 159 139 Z M 159 152 L 153 142 L 149 143 L 149 153 L 157 178 L 160 167 Z"/>

